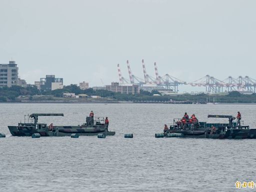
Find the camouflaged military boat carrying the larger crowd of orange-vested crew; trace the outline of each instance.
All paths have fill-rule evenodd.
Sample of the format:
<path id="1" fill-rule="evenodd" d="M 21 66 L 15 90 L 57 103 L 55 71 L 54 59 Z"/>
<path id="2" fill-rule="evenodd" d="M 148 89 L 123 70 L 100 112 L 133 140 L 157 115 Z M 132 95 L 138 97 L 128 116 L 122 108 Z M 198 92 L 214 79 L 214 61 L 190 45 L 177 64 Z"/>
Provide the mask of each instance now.
<path id="1" fill-rule="evenodd" d="M 208 118 L 228 118 L 228 123 L 179 123 L 179 119 L 173 119 L 173 125 L 164 130 L 164 136 L 168 133 L 178 133 L 182 137 L 198 138 L 256 138 L 256 129 L 248 125 L 237 125 L 233 122 L 232 115 L 208 115 Z M 175 134 L 173 134 L 175 135 Z"/>

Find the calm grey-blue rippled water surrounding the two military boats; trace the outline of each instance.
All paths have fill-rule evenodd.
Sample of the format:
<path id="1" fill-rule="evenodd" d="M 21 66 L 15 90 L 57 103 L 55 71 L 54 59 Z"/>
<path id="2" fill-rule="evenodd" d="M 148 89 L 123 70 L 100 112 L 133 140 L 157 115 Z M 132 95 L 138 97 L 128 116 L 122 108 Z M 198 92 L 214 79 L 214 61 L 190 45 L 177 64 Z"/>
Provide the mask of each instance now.
<path id="1" fill-rule="evenodd" d="M 7 125 L 23 114 L 57 112 L 40 122 L 76 125 L 90 110 L 108 116 L 114 136 L 15 137 Z M 234 191 L 235 182 L 256 182 L 256 139 L 154 138 L 186 111 L 242 114 L 256 127 L 256 105 L 0 104 L 0 191 Z M 224 121 L 224 119 L 221 119 Z M 123 138 L 124 133 L 133 138 Z M 254 189 L 237 189 L 253 191 Z"/>

